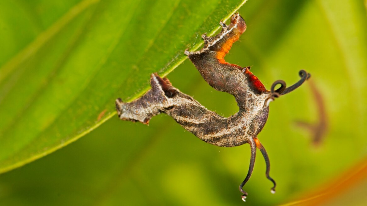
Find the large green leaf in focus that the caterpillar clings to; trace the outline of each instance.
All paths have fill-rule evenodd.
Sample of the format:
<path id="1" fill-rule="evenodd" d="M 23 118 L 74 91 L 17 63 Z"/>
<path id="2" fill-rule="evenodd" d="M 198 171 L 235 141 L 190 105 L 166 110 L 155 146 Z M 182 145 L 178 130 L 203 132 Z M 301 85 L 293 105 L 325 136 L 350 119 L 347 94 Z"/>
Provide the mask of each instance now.
<path id="1" fill-rule="evenodd" d="M 2 2 L 0 172 L 115 116 L 116 98 L 140 96 L 150 73 L 167 75 L 186 59 L 186 48 L 200 47 L 201 33 L 215 33 L 244 2 Z"/>

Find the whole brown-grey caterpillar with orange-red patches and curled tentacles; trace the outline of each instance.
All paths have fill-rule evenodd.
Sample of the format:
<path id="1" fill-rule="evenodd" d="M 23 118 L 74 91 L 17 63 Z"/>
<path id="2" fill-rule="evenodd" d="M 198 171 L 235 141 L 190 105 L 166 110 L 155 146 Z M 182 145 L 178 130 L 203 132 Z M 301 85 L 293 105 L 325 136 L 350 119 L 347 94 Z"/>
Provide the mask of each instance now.
<path id="1" fill-rule="evenodd" d="M 222 30 L 215 37 L 203 34 L 204 47 L 200 51 L 186 50 L 185 54 L 211 87 L 235 96 L 239 106 L 236 114 L 225 118 L 214 111 L 207 110 L 195 99 L 173 87 L 167 78 L 161 78 L 157 74 L 150 76 L 152 88 L 145 95 L 129 103 L 117 99 L 116 109 L 120 119 L 139 121 L 144 124 L 148 124 L 152 116 L 166 113 L 201 140 L 216 146 L 235 147 L 249 143 L 250 168 L 240 185 L 244 200 L 247 193 L 242 187 L 251 176 L 256 148 L 265 158 L 266 177 L 273 182 L 272 192 L 275 192 L 275 181 L 269 176 L 269 158 L 257 135 L 268 119 L 269 103 L 274 98 L 297 88 L 309 78 L 309 74 L 303 70 L 300 71 L 302 80 L 290 88 L 286 89 L 285 82 L 278 80 L 272 85 L 271 91 L 266 90 L 261 81 L 250 72 L 250 67 L 240 67 L 224 60 L 232 44 L 246 30 L 243 18 L 235 14 L 231 18 L 230 25 L 226 26 L 223 22 L 220 24 Z M 276 84 L 281 84 L 281 87 L 274 90 Z"/>

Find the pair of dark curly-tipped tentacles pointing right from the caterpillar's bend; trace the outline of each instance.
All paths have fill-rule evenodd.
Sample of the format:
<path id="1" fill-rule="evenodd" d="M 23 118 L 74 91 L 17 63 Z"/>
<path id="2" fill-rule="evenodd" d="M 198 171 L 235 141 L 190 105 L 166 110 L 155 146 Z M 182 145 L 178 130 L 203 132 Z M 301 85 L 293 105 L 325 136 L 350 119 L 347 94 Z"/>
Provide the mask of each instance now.
<path id="1" fill-rule="evenodd" d="M 309 73 L 307 73 L 305 70 L 301 70 L 299 71 L 299 76 L 301 77 L 301 79 L 296 82 L 294 85 L 287 87 L 286 82 L 284 82 L 283 80 L 277 80 L 272 84 L 272 87 L 270 89 L 270 91 L 272 92 L 273 98 L 277 98 L 281 95 L 285 95 L 291 91 L 293 91 L 294 89 L 297 89 L 299 86 L 301 86 L 306 80 L 308 80 L 311 75 Z M 275 90 L 276 85 L 280 84 L 280 87 L 278 89 Z"/>

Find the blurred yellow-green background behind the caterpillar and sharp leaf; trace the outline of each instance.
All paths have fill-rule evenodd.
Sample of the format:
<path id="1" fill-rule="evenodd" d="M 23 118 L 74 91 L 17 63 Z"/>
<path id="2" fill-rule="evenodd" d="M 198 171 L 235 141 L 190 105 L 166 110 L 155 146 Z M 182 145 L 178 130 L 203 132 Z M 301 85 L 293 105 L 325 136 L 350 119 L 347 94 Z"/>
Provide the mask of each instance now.
<path id="1" fill-rule="evenodd" d="M 49 18 L 42 18 L 45 25 L 50 24 L 47 20 L 54 9 L 68 8 L 66 3 L 45 5 L 49 11 L 45 14 Z M 1 19 L 11 18 L 14 12 L 1 8 Z M 312 133 L 295 124 L 319 121 L 308 84 L 270 104 L 268 122 L 258 138 L 269 154 L 270 176 L 277 182 L 275 195 L 270 194 L 272 184 L 265 178 L 265 163 L 258 153 L 252 177 L 244 187 L 247 201 L 241 201 L 238 185 L 250 161 L 247 144 L 212 146 L 164 114 L 153 117 L 149 126 L 120 121 L 115 115 L 78 141 L 1 174 L 1 205 L 280 205 L 312 199 L 317 194 L 322 195 L 315 198 L 320 205 L 366 205 L 364 2 L 249 0 L 239 13 L 247 31 L 233 45 L 227 62 L 251 66 L 268 89 L 278 79 L 293 84 L 299 79 L 298 71 L 305 69 L 312 74 L 326 107 L 327 130 L 315 147 Z M 19 15 L 15 17 L 14 24 Z M 8 34 L 12 37 L 7 38 L 6 32 L 1 32 L 1 59 L 10 59 L 32 42 L 23 39 L 21 33 Z M 18 48 L 4 48 L 9 45 L 4 44 L 7 39 L 16 39 Z M 160 58 L 160 53 L 156 52 L 155 58 Z M 218 114 L 229 116 L 238 110 L 235 99 L 212 89 L 188 60 L 167 77 L 176 88 Z M 124 85 L 119 78 L 99 78 Z M 146 81 L 142 81 L 148 82 L 149 76 L 144 78 Z M 131 91 L 130 97 L 136 92 Z M 108 110 L 113 109 L 114 102 L 107 105 Z M 360 168 L 362 172 L 358 173 Z M 348 180 L 345 187 L 337 187 L 349 176 L 357 181 Z"/>

